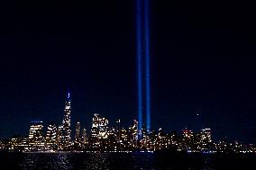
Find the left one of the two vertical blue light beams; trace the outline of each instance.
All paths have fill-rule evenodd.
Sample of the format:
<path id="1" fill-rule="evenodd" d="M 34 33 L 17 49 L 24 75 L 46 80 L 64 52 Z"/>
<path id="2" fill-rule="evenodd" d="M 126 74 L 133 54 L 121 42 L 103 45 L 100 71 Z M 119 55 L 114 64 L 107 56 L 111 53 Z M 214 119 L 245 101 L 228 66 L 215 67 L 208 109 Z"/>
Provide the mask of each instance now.
<path id="1" fill-rule="evenodd" d="M 137 0 L 138 130 L 142 130 L 142 0 Z"/>

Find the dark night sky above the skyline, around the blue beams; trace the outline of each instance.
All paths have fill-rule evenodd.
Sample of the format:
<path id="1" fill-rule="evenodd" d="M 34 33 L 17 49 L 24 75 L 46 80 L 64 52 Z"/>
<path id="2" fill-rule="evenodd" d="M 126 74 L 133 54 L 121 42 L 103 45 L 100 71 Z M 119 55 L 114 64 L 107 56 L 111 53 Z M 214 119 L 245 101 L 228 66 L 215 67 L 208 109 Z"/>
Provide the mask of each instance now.
<path id="1" fill-rule="evenodd" d="M 255 10 L 234 2 L 151 1 L 152 128 L 209 127 L 215 140 L 256 143 Z M 0 28 L 0 136 L 29 121 L 72 124 L 99 112 L 137 118 L 135 6 L 131 0 L 15 1 Z M 197 116 L 199 113 L 199 116 Z"/>

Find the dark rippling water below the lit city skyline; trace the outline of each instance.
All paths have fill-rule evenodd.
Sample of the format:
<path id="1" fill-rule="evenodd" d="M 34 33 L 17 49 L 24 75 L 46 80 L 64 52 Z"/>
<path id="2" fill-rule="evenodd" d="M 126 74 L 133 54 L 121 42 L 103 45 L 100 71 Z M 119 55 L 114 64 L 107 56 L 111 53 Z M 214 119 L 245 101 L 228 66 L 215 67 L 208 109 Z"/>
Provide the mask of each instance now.
<path id="1" fill-rule="evenodd" d="M 17 170 L 247 170 L 255 154 L 187 153 L 0 153 L 0 169 Z"/>

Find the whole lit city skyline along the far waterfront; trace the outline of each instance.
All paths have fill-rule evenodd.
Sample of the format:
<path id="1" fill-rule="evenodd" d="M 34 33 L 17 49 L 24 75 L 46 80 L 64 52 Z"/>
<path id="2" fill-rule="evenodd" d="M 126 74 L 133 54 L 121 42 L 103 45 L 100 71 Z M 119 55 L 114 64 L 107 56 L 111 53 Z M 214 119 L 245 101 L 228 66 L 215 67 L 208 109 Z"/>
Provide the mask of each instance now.
<path id="1" fill-rule="evenodd" d="M 147 124 L 139 126 L 139 121 L 133 120 L 128 127 L 121 126 L 121 120 L 115 121 L 115 126 L 100 114 L 95 113 L 90 130 L 86 130 L 77 121 L 76 129 L 71 130 L 71 98 L 68 92 L 63 111 L 63 121 L 57 124 L 52 121 L 44 130 L 43 121 L 31 121 L 28 136 L 13 136 L 10 139 L 0 139 L 0 150 L 9 152 L 154 152 L 170 150 L 188 153 L 255 153 L 253 144 L 243 144 L 240 141 L 228 141 L 228 138 L 214 141 L 209 128 L 198 131 L 148 130 Z M 82 129 L 81 129 L 82 128 Z"/>

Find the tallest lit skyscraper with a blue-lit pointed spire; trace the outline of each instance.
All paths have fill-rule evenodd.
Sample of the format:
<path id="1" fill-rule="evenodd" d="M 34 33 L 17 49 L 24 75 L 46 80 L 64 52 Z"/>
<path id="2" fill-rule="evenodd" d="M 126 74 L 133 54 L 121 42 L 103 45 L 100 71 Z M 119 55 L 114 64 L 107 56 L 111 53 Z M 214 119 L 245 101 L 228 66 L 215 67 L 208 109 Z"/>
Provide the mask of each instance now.
<path id="1" fill-rule="evenodd" d="M 59 149 L 60 150 L 69 150 L 71 147 L 71 101 L 70 94 L 68 93 L 68 97 L 65 103 L 64 109 L 64 118 L 62 121 L 62 125 L 59 126 Z"/>

